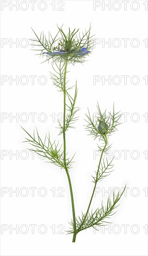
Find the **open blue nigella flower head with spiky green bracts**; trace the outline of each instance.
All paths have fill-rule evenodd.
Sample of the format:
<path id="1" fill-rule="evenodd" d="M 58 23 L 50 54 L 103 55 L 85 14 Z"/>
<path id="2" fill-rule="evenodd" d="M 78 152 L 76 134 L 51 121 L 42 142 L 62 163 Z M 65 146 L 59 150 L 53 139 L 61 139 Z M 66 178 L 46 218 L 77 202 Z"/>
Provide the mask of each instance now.
<path id="1" fill-rule="evenodd" d="M 47 39 L 44 34 L 41 33 L 40 37 L 37 37 L 35 42 L 38 42 L 40 46 L 40 55 L 44 56 L 46 54 L 46 61 L 53 59 L 53 61 L 65 62 L 67 58 L 69 63 L 82 63 L 85 61 L 85 56 L 91 53 L 90 50 L 93 48 L 93 39 L 92 36 L 90 36 L 90 29 L 91 28 L 80 36 L 80 33 L 78 33 L 79 29 L 71 31 L 69 28 L 68 34 L 65 34 L 62 27 L 58 27 L 56 37 L 51 36 L 49 33 L 49 39 Z"/>

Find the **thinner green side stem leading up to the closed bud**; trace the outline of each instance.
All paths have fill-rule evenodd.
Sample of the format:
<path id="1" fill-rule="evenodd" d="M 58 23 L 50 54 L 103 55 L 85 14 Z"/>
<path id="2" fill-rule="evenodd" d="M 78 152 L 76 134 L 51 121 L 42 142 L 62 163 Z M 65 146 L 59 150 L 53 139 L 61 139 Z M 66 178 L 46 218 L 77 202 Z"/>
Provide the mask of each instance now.
<path id="1" fill-rule="evenodd" d="M 97 181 L 97 177 L 98 177 L 98 174 L 99 174 L 99 168 L 100 168 L 102 156 L 103 156 L 103 153 L 104 153 L 104 151 L 105 151 L 106 145 L 107 145 L 107 138 L 106 138 L 106 135 L 105 135 L 105 146 L 104 146 L 104 148 L 103 148 L 103 150 L 102 150 L 102 153 L 101 153 L 101 155 L 100 155 L 99 166 L 98 166 L 97 175 L 96 175 L 96 182 L 95 182 L 95 185 L 94 185 L 94 189 L 93 189 L 93 193 L 92 193 L 92 196 L 91 196 L 91 200 L 90 200 L 90 202 L 89 202 L 89 205 L 88 205 L 86 214 L 85 214 L 85 216 L 84 216 L 84 219 L 83 219 L 83 221 L 82 221 L 82 223 L 81 223 L 79 229 L 77 230 L 77 232 L 80 231 L 80 228 L 83 226 L 83 224 L 84 224 L 84 222 L 85 222 L 85 220 L 86 220 L 87 214 L 88 214 L 88 212 L 89 212 L 89 209 L 90 209 L 90 206 L 91 206 L 91 203 L 92 203 L 92 200 L 93 200 L 93 195 L 94 195 L 94 192 L 95 192 L 95 189 L 96 189 L 96 186 L 97 186 L 97 182 L 98 182 L 98 181 Z"/>

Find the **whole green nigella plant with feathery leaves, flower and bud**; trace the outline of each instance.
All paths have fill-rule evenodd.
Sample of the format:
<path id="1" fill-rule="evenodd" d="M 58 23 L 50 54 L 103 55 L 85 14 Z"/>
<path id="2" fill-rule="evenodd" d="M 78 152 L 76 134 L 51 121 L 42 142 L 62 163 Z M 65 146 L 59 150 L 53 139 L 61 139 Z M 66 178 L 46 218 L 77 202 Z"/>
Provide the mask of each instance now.
<path id="1" fill-rule="evenodd" d="M 39 55 L 43 56 L 43 62 L 48 61 L 49 63 L 49 61 L 51 61 L 52 67 L 53 64 L 55 64 L 53 67 L 55 73 L 51 73 L 51 78 L 58 91 L 62 92 L 63 95 L 63 122 L 61 123 L 59 121 L 59 135 L 62 135 L 62 143 L 60 145 L 55 139 L 51 139 L 49 133 L 48 135 L 45 135 L 44 139 L 41 139 L 38 131 L 36 131 L 36 133 L 34 132 L 33 135 L 30 135 L 24 128 L 23 129 L 28 135 L 25 142 L 31 144 L 32 151 L 38 155 L 44 156 L 47 160 L 46 162 L 53 163 L 63 171 L 65 170 L 69 183 L 72 207 L 71 226 L 67 232 L 68 234 L 73 234 L 72 242 L 75 242 L 76 236 L 80 231 L 91 227 L 97 229 L 97 227 L 99 228 L 100 225 L 106 223 L 106 219 L 108 221 L 108 218 L 114 214 L 114 209 L 117 207 L 118 201 L 125 190 L 124 188 L 122 193 L 118 192 L 117 195 L 113 192 L 113 198 L 111 199 L 111 197 L 108 197 L 105 206 L 100 202 L 100 207 L 97 207 L 97 209 L 94 210 L 90 209 L 97 183 L 104 179 L 105 176 L 110 175 L 113 168 L 112 160 L 108 161 L 107 158 L 103 158 L 103 155 L 109 148 L 111 148 L 109 136 L 117 130 L 117 126 L 120 124 L 121 115 L 119 112 L 115 113 L 114 107 L 112 112 L 106 114 L 105 110 L 105 112 L 102 113 L 99 108 L 99 103 L 97 105 L 97 121 L 94 121 L 94 118 L 91 117 L 89 110 L 88 114 L 86 114 L 86 131 L 88 131 L 94 139 L 102 141 L 100 146 L 97 144 L 98 151 L 101 154 L 99 156 L 97 170 L 94 173 L 94 176 L 92 175 L 94 188 L 88 202 L 88 207 L 86 208 L 85 213 L 82 212 L 81 216 L 76 217 L 72 182 L 70 179 L 70 169 L 73 168 L 74 155 L 71 157 L 68 156 L 66 134 L 69 128 L 74 128 L 74 122 L 78 119 L 77 112 L 79 111 L 79 108 L 75 106 L 78 91 L 77 83 L 75 83 L 75 86 L 73 87 L 68 87 L 67 67 L 68 64 L 75 65 L 76 63 L 83 63 L 86 60 L 86 57 L 89 57 L 89 55 L 92 54 L 93 36 L 91 36 L 91 28 L 83 32 L 82 35 L 78 32 L 79 29 L 71 31 L 69 28 L 67 33 L 62 30 L 62 27 L 57 27 L 57 29 L 58 31 L 55 37 L 51 36 L 49 32 L 48 39 L 44 33 L 37 36 L 34 32 L 37 37 L 37 39 L 34 40 L 34 45 L 39 47 L 35 50 L 40 51 Z M 73 94 L 71 94 L 72 90 Z M 86 189 L 88 189 L 88 185 L 86 186 Z"/>

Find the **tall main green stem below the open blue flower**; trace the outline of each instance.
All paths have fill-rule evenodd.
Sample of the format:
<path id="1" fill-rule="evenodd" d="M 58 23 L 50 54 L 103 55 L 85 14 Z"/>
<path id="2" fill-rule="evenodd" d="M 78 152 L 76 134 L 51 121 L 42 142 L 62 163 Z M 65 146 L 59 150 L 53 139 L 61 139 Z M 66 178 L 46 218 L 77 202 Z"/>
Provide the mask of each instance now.
<path id="1" fill-rule="evenodd" d="M 73 242 L 75 242 L 75 238 L 76 238 L 76 222 L 75 222 L 75 210 L 74 210 L 74 195 L 73 195 L 73 189 L 72 189 L 72 185 L 71 185 L 71 180 L 70 180 L 70 176 L 69 176 L 69 172 L 68 172 L 68 168 L 67 168 L 67 164 L 66 164 L 66 136 L 65 136 L 65 118 L 66 118 L 66 73 L 67 73 L 67 66 L 68 66 L 68 59 L 66 58 L 66 62 L 65 62 L 65 70 L 64 70 L 64 117 L 63 117 L 63 146 L 64 146 L 64 167 L 65 167 L 65 171 L 66 174 L 68 176 L 68 182 L 69 182 L 69 189 L 70 189 L 70 195 L 71 195 L 71 204 L 72 204 L 72 211 L 73 211 L 73 225 L 74 225 L 74 235 L 73 235 Z"/>

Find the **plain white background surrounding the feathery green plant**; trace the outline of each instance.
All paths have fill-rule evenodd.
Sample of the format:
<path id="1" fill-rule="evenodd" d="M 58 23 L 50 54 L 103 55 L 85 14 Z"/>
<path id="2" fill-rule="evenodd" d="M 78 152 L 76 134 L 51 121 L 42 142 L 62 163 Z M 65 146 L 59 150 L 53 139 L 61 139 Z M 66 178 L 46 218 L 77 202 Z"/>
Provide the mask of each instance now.
<path id="1" fill-rule="evenodd" d="M 145 47 L 143 40 L 148 37 L 148 2 L 133 3 L 130 0 L 127 3 L 127 10 L 124 10 L 123 1 L 98 1 L 96 5 L 100 6 L 95 10 L 93 1 L 63 1 L 61 11 L 57 10 L 61 6 L 61 2 L 58 1 L 33 2 L 34 10 L 31 1 L 1 1 L 1 5 L 6 5 L 3 8 L 1 6 L 1 75 L 7 80 L 1 85 L 1 113 L 6 113 L 2 114 L 2 117 L 6 118 L 1 119 L 1 187 L 7 188 L 7 193 L 1 195 L 1 225 L 5 224 L 7 227 L 1 234 L 1 256 L 146 256 L 148 183 L 147 155 L 143 152 L 147 149 L 145 113 L 148 112 L 148 98 L 147 85 L 143 77 L 147 75 L 148 48 Z M 11 7 L 12 4 L 18 5 L 17 10 L 16 7 Z M 104 4 L 110 4 L 111 9 L 104 8 Z M 117 10 L 118 7 L 121 8 Z M 126 114 L 123 114 L 123 124 L 111 137 L 111 154 L 116 150 L 115 171 L 98 184 L 101 192 L 93 199 L 93 209 L 101 206 L 102 198 L 103 202 L 106 202 L 108 193 L 105 193 L 104 197 L 104 190 L 111 188 L 112 191 L 115 187 L 122 189 L 125 183 L 129 189 L 127 196 L 122 197 L 117 213 L 111 217 L 111 232 L 101 228 L 93 234 L 93 229 L 88 229 L 80 232 L 76 243 L 72 243 L 72 235 L 66 236 L 64 231 L 68 230 L 68 222 L 72 217 L 66 174 L 64 170 L 61 171 L 58 167 L 44 162 L 37 155 L 32 159 L 31 152 L 26 149 L 29 145 L 21 143 L 24 141 L 25 133 L 20 125 L 31 134 L 37 127 L 42 138 L 50 131 L 52 141 L 56 139 L 62 142 L 62 137 L 57 137 L 58 130 L 55 128 L 57 115 L 62 113 L 62 93 L 57 92 L 50 80 L 51 65 L 47 62 L 40 64 L 42 59 L 35 55 L 36 52 L 31 51 L 31 46 L 27 43 L 30 38 L 34 38 L 31 27 L 38 35 L 41 31 L 47 34 L 48 30 L 56 34 L 56 24 L 64 24 L 65 31 L 68 27 L 84 31 L 89 28 L 90 22 L 94 38 L 101 42 L 96 45 L 83 65 L 68 67 L 69 85 L 73 85 L 77 80 L 79 88 L 76 103 L 80 107 L 79 121 L 76 122 L 76 129 L 67 132 L 69 155 L 76 152 L 74 168 L 70 172 L 76 216 L 80 215 L 81 211 L 86 211 L 93 189 L 91 174 L 96 170 L 99 161 L 97 157 L 93 159 L 98 141 L 93 141 L 91 136 L 87 136 L 83 127 L 87 107 L 91 113 L 97 112 L 97 101 L 102 111 L 110 111 L 114 102 L 116 111 L 127 113 L 127 120 Z M 115 38 L 118 39 L 116 42 Z M 124 46 L 123 38 L 129 39 L 127 47 Z M 109 39 L 110 47 L 103 44 L 103 40 Z M 17 43 L 12 44 L 12 41 Z M 120 41 L 121 46 L 116 47 L 116 43 Z M 137 41 L 140 45 L 134 47 Z M 31 82 L 32 75 L 37 76 L 34 85 Z M 99 81 L 94 85 L 94 75 L 105 78 L 109 75 L 111 78 L 118 75 L 121 77 L 121 83 L 116 85 L 116 82 L 111 82 L 109 85 L 105 82 L 103 85 L 102 81 Z M 129 76 L 127 85 L 124 84 L 123 75 Z M 134 75 L 139 77 L 137 85 L 130 81 Z M 11 76 L 18 76 L 19 79 L 26 76 L 28 83 L 23 84 L 24 78 L 16 84 L 16 81 L 11 81 Z M 41 84 L 43 80 L 38 82 L 40 76 L 47 77 L 45 85 Z M 26 114 L 23 116 L 22 113 Z M 37 113 L 34 122 L 29 113 Z M 43 118 L 40 113 L 47 115 L 47 121 L 42 122 L 40 118 L 38 120 L 38 117 Z M 19 118 L 11 119 L 11 115 L 18 115 Z M 27 121 L 23 121 L 25 116 L 28 116 Z M 127 157 L 124 156 L 123 150 L 128 150 Z M 19 154 L 18 157 L 12 155 L 16 152 Z M 25 159 L 26 152 L 28 155 Z M 16 193 L 12 193 L 11 196 L 11 188 L 16 190 L 17 187 L 19 196 L 16 196 Z M 25 190 L 21 190 L 23 187 L 29 191 L 27 196 L 22 196 L 22 193 L 25 193 Z M 31 187 L 37 188 L 34 197 L 29 189 Z M 46 196 L 37 193 L 42 187 L 47 189 Z M 55 196 L 50 190 L 53 188 Z M 57 196 L 63 190 L 58 191 L 58 188 L 64 189 L 64 196 Z M 29 226 L 31 224 L 37 225 L 34 234 Z M 43 229 L 41 232 L 37 230 L 42 224 L 47 227 L 45 234 L 41 234 Z M 28 233 L 23 234 L 24 228 L 19 229 L 19 234 L 16 234 L 16 230 L 12 230 L 10 234 L 11 225 L 13 228 L 16 225 L 19 225 L 19 228 L 26 225 L 29 228 Z M 55 234 L 51 228 L 53 225 L 56 227 Z M 64 226 L 64 234 L 57 234 L 61 229 L 58 225 Z M 128 225 L 127 232 L 124 230 L 125 225 Z"/>

